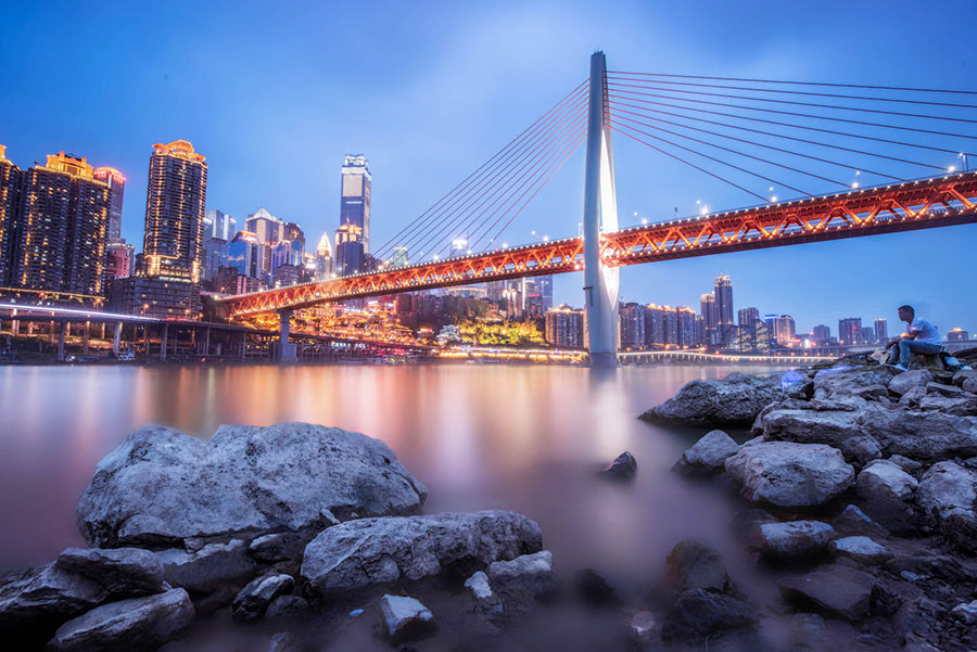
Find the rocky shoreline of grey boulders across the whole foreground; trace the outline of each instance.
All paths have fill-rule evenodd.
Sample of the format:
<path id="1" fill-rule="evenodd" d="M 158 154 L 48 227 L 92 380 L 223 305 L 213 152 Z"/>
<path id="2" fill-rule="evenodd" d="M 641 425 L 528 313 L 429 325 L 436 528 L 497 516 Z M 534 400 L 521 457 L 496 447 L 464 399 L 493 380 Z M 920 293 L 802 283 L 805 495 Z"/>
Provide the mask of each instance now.
<path id="1" fill-rule="evenodd" d="M 750 429 L 708 432 L 674 470 L 741 502 L 728 561 L 771 590 L 696 539 L 649 560 L 663 586 L 569 573 L 525 515 L 422 513 L 424 485 L 358 433 L 149 425 L 83 493 L 91 548 L 0 577 L 0 636 L 65 652 L 977 648 L 977 372 L 782 375 L 694 381 L 642 416 Z M 639 472 L 625 452 L 597 476 Z M 216 647 L 194 638 L 215 627 Z"/>

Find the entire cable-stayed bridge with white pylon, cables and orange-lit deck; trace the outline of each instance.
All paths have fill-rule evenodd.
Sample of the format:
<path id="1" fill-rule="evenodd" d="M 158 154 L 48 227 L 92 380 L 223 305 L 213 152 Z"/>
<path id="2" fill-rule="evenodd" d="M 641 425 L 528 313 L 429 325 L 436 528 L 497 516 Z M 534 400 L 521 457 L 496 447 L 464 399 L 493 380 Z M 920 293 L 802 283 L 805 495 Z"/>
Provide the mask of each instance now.
<path id="1" fill-rule="evenodd" d="M 598 52 L 587 80 L 372 252 L 376 270 L 229 296 L 220 307 L 230 318 L 279 312 L 288 357 L 294 309 L 583 270 L 591 361 L 612 365 L 621 266 L 977 222 L 977 172 L 967 169 L 977 137 L 960 131 L 977 124 L 977 105 L 962 101 L 972 95 L 608 72 Z M 612 132 L 761 203 L 619 229 Z M 583 235 L 503 244 L 582 144 Z M 785 191 L 792 199 L 778 200 Z M 398 250 L 417 263 L 394 266 Z"/>

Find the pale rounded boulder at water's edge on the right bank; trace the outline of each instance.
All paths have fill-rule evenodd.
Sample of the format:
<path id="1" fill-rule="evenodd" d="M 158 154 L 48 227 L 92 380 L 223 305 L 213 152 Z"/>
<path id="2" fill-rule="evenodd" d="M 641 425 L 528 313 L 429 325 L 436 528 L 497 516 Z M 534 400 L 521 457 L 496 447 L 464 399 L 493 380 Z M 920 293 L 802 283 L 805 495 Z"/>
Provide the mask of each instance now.
<path id="1" fill-rule="evenodd" d="M 745 446 L 726 460 L 726 471 L 748 499 L 779 507 L 824 504 L 848 489 L 855 475 L 837 449 L 791 442 Z"/>

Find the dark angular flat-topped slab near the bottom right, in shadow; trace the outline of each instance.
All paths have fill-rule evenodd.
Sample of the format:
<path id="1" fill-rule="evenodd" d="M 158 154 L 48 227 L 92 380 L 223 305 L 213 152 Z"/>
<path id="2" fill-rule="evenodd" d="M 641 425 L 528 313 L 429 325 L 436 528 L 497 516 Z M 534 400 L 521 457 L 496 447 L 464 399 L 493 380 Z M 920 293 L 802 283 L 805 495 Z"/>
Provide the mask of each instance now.
<path id="1" fill-rule="evenodd" d="M 827 564 L 777 581 L 781 595 L 801 609 L 857 623 L 870 615 L 875 578 L 862 571 Z"/>

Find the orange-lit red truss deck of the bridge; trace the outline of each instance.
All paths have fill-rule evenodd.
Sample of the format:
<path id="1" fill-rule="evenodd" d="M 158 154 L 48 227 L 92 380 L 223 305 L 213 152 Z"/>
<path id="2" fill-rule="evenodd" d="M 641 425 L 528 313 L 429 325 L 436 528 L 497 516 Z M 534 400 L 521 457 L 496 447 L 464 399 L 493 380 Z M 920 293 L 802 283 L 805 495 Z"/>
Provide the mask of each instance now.
<path id="1" fill-rule="evenodd" d="M 786 246 L 977 222 L 977 172 L 677 219 L 601 234 L 607 266 Z M 218 301 L 223 317 L 583 269 L 568 238 Z"/>

